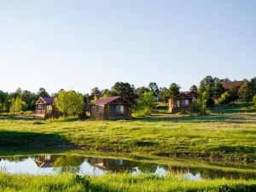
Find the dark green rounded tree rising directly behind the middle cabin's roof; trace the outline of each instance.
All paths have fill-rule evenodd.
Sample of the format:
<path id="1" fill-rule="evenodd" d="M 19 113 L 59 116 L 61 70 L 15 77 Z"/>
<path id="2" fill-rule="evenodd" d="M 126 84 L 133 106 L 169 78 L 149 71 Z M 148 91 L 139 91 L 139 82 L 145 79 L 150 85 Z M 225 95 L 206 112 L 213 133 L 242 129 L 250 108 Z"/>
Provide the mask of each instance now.
<path id="1" fill-rule="evenodd" d="M 122 96 L 127 100 L 132 101 L 135 97 L 135 88 L 132 84 L 124 83 L 124 82 L 116 82 L 111 92 L 113 93 L 113 96 Z"/>

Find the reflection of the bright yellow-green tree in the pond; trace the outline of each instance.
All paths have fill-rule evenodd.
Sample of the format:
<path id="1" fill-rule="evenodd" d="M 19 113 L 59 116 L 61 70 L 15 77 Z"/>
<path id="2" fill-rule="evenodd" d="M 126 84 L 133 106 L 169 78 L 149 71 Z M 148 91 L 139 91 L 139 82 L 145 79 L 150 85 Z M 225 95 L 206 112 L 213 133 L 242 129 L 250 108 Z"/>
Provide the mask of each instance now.
<path id="1" fill-rule="evenodd" d="M 84 162 L 83 157 L 78 156 L 60 156 L 54 162 L 54 170 L 57 172 L 72 172 L 80 171 L 80 166 Z"/>

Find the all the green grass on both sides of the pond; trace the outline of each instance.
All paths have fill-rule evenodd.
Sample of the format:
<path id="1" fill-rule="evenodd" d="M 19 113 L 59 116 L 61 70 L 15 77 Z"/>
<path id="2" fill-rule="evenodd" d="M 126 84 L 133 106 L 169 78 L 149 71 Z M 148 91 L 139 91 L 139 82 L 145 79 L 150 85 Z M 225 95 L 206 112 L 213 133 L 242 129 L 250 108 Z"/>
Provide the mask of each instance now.
<path id="1" fill-rule="evenodd" d="M 48 119 L 0 116 L 0 154 L 13 155 L 19 148 L 33 154 L 76 149 L 77 154 L 110 154 L 161 164 L 205 167 L 223 172 L 254 174 L 256 113 L 225 111 L 206 116 L 154 113 L 132 120 Z M 13 148 L 9 150 L 7 148 Z M 16 148 L 16 149 L 15 149 Z M 68 153 L 68 152 L 67 152 Z M 142 159 L 142 157 L 144 159 Z M 170 161 L 170 158 L 183 158 Z M 193 159 L 193 160 L 192 160 Z M 210 160 L 202 163 L 201 160 Z M 222 166 L 222 163 L 247 164 Z M 26 181 L 30 180 L 28 184 Z M 101 177 L 72 174 L 56 176 L 0 173 L 3 191 L 255 191 L 255 180 L 203 179 L 189 181 L 172 172 L 167 177 L 132 176 L 128 173 Z"/>

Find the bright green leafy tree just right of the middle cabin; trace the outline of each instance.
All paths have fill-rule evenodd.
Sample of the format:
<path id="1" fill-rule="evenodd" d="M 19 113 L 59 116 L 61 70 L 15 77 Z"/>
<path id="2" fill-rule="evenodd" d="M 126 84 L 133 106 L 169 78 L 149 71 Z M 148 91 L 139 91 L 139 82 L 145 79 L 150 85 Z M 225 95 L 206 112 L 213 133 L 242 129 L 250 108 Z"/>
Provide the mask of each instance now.
<path id="1" fill-rule="evenodd" d="M 154 93 L 146 92 L 141 96 L 134 109 L 139 113 L 150 114 L 156 106 L 157 102 L 154 100 Z"/>

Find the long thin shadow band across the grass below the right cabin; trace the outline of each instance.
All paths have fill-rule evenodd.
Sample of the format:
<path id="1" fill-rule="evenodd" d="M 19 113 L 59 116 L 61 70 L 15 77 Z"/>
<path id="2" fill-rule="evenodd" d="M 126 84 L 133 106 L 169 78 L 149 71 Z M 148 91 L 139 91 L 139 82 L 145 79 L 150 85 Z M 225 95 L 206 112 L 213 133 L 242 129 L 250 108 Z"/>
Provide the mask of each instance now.
<path id="1" fill-rule="evenodd" d="M 174 123 L 233 123 L 233 124 L 244 124 L 244 123 L 256 123 L 256 114 L 237 114 L 237 115 L 224 115 L 224 114 L 212 114 L 206 116 L 195 116 L 195 115 L 186 115 L 186 116 L 151 116 L 144 118 L 135 118 L 134 120 L 140 121 L 170 121 Z"/>

